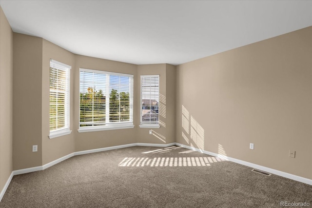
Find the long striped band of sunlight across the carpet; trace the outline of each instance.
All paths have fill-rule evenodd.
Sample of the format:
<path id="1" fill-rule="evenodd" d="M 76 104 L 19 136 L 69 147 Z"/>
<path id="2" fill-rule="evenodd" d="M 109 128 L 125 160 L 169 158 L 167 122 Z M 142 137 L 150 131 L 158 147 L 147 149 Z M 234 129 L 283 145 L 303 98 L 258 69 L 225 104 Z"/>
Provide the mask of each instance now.
<path id="1" fill-rule="evenodd" d="M 177 166 L 211 166 L 212 163 L 222 162 L 223 159 L 215 157 L 126 157 L 118 166 L 122 167 L 177 167 Z"/>

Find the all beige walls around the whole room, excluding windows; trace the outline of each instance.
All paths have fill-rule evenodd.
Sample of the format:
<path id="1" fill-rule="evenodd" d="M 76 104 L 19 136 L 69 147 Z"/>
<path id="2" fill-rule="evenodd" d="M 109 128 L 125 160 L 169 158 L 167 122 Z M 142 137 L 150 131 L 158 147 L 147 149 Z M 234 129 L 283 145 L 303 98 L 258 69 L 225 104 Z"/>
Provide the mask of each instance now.
<path id="1" fill-rule="evenodd" d="M 312 179 L 312 27 L 179 66 L 135 65 L 13 33 L 0 15 L 1 189 L 12 170 L 132 143 L 178 142 Z M 72 133 L 54 139 L 48 138 L 50 59 L 72 66 Z M 135 128 L 78 133 L 79 68 L 134 75 Z M 147 74 L 160 75 L 161 127 L 153 135 L 138 127 L 140 75 Z"/>

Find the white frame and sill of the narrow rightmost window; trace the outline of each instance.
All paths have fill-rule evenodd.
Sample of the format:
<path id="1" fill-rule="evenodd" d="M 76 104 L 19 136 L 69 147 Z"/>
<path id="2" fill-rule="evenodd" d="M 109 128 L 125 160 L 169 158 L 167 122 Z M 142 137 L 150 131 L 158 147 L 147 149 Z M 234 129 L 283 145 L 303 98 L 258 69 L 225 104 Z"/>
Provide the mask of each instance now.
<path id="1" fill-rule="evenodd" d="M 154 123 L 144 123 L 142 121 L 142 100 L 143 100 L 143 91 L 142 91 L 142 78 L 158 78 L 158 121 L 154 122 Z M 159 75 L 141 75 L 140 77 L 140 125 L 139 127 L 140 128 L 160 128 L 160 125 L 159 125 L 159 90 L 160 90 L 160 76 Z"/>

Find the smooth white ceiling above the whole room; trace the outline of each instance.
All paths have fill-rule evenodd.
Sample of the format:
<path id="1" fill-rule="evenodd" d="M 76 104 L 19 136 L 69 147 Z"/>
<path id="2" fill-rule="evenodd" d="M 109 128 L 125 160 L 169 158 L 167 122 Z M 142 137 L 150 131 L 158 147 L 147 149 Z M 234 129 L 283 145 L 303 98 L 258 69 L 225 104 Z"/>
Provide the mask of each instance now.
<path id="1" fill-rule="evenodd" d="M 312 0 L 0 0 L 14 32 L 75 54 L 180 64 L 312 26 Z"/>

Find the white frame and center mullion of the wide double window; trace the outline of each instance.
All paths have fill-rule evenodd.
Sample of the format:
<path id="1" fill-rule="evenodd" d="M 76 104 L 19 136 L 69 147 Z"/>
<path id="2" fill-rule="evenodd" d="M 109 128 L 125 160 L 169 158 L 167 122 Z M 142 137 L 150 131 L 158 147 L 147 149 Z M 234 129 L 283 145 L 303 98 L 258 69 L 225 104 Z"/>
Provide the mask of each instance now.
<path id="1" fill-rule="evenodd" d="M 106 107 L 105 109 L 109 110 L 109 76 L 110 75 L 116 75 L 116 76 L 124 76 L 129 77 L 129 120 L 126 122 L 109 122 L 109 113 L 106 113 L 106 122 L 103 125 L 97 125 L 97 126 L 80 126 L 80 110 L 79 110 L 79 129 L 78 132 L 90 132 L 90 131 L 103 131 L 103 130 L 115 130 L 115 129 L 125 129 L 125 128 L 134 128 L 133 125 L 133 75 L 132 74 L 123 74 L 123 73 L 115 73 L 115 72 L 108 72 L 108 71 L 100 71 L 100 70 L 94 70 L 94 69 L 85 69 L 85 68 L 79 68 L 79 109 L 80 109 L 80 72 L 91 72 L 91 73 L 98 73 L 98 74 L 104 74 L 106 75 Z"/>

